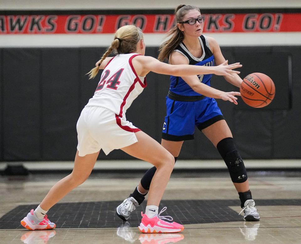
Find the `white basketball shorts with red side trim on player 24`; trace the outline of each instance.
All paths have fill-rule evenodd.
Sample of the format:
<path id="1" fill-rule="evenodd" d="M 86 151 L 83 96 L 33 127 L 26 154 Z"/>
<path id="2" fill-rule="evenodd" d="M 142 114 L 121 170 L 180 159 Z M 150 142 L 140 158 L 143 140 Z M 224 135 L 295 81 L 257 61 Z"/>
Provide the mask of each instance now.
<path id="1" fill-rule="evenodd" d="M 107 108 L 87 106 L 77 121 L 77 150 L 83 157 L 100 149 L 108 155 L 114 149 L 124 148 L 138 142 L 137 127 L 118 117 Z"/>

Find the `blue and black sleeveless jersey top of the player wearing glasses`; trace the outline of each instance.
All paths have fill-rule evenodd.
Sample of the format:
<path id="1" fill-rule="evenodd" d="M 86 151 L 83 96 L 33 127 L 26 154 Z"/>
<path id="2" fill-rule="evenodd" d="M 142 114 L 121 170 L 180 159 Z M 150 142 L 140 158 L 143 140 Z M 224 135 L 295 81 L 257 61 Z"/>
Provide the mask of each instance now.
<path id="1" fill-rule="evenodd" d="M 203 49 L 203 55 L 200 58 L 194 57 L 186 48 L 183 42 L 174 50 L 174 52 L 179 52 L 184 55 L 189 61 L 190 65 L 199 66 L 214 66 L 214 56 L 209 47 L 207 38 L 201 35 L 199 38 Z M 210 79 L 212 74 L 208 75 L 198 75 L 200 82 L 210 86 Z M 179 76 L 170 76 L 170 88 L 169 90 L 173 93 L 181 96 L 200 96 L 199 93 L 193 91 L 193 89 Z"/>

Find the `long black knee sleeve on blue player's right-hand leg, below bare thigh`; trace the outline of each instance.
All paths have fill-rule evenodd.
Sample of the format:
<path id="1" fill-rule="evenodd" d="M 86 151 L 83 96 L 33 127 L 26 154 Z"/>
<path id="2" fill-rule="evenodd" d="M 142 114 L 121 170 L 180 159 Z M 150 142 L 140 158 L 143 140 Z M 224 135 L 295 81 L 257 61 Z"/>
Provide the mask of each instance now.
<path id="1" fill-rule="evenodd" d="M 216 148 L 228 167 L 232 182 L 245 182 L 248 179 L 246 167 L 235 147 L 233 138 L 224 138 L 217 143 Z"/>

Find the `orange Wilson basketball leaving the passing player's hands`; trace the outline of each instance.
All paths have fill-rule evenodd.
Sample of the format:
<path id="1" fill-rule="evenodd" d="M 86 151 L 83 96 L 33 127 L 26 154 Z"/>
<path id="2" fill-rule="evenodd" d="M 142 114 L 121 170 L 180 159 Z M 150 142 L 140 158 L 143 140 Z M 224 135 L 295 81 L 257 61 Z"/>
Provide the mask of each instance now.
<path id="1" fill-rule="evenodd" d="M 240 86 L 242 100 L 251 107 L 261 108 L 269 105 L 275 96 L 272 79 L 262 73 L 247 75 Z"/>

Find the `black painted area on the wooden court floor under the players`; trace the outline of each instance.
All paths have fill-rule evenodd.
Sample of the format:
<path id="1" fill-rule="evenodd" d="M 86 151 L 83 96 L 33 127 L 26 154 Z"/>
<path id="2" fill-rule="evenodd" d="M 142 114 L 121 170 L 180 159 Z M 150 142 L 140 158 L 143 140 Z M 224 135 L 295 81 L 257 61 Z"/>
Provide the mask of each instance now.
<path id="1" fill-rule="evenodd" d="M 145 210 L 143 202 L 134 211 L 127 223 L 115 214 L 115 207 L 121 201 L 58 203 L 47 213 L 56 228 L 118 228 L 122 225 L 136 227 L 140 224 L 141 211 Z M 256 200 L 260 206 L 298 205 L 300 199 Z M 243 217 L 229 206 L 239 205 L 239 200 L 162 200 L 161 210 L 167 206 L 162 215 L 171 215 L 174 221 L 185 224 L 221 223 L 243 221 Z M 0 218 L 0 229 L 22 229 L 20 221 L 35 205 L 19 205 Z"/>

